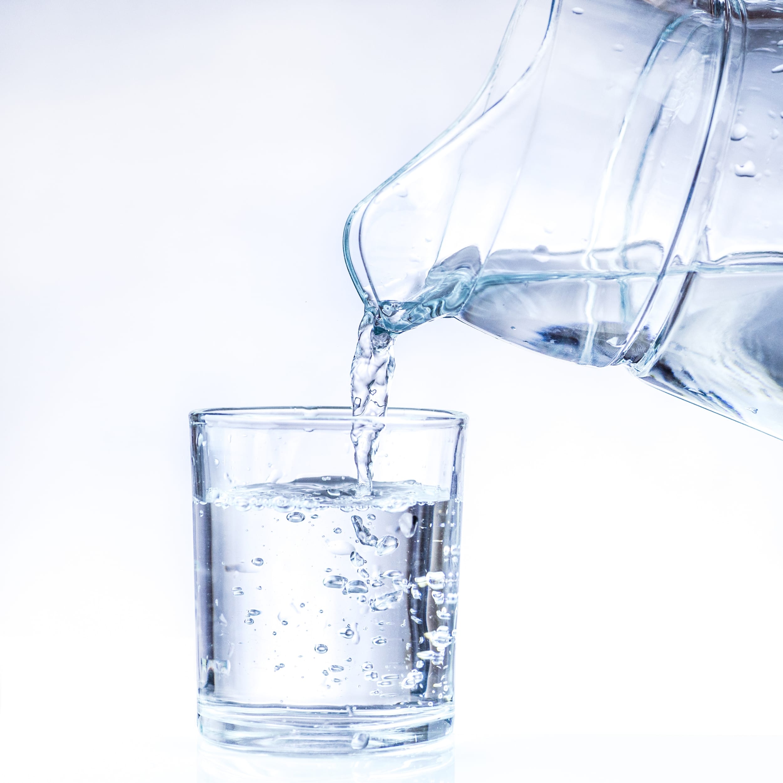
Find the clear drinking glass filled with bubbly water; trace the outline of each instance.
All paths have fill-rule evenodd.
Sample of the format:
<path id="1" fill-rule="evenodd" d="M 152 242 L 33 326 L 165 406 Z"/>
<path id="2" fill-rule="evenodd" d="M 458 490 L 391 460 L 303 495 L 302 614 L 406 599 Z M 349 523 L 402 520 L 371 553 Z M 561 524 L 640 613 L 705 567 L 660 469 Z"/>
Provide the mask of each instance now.
<path id="1" fill-rule="evenodd" d="M 451 731 L 466 420 L 373 418 L 368 492 L 357 418 L 190 416 L 198 720 L 213 742 L 359 752 Z"/>

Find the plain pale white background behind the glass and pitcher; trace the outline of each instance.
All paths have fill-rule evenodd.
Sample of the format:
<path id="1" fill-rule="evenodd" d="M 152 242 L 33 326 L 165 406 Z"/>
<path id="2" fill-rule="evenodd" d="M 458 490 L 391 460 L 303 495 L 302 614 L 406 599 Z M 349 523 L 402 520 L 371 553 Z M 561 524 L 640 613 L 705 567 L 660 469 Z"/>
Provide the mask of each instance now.
<path id="1" fill-rule="evenodd" d="M 5 780 L 196 780 L 187 413 L 348 404 L 345 218 L 512 5 L 0 2 Z M 397 366 L 471 415 L 457 779 L 779 780 L 781 443 L 456 321 Z"/>

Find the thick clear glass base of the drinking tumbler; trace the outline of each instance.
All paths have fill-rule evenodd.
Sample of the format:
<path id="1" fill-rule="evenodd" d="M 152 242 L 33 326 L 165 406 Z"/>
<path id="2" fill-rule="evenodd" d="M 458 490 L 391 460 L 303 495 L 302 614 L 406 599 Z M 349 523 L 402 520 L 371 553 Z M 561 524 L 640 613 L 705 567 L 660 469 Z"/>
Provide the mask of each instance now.
<path id="1" fill-rule="evenodd" d="M 420 745 L 451 733 L 453 704 L 390 707 L 244 706 L 199 701 L 210 742 L 272 753 L 356 753 Z"/>

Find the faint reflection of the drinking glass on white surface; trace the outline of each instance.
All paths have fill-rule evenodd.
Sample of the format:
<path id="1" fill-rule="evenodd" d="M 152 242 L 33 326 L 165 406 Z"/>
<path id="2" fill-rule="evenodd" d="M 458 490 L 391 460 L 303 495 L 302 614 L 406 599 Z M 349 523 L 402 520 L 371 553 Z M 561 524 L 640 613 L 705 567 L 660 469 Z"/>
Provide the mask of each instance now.
<path id="1" fill-rule="evenodd" d="M 450 739 L 361 756 L 279 756 L 236 751 L 203 739 L 197 783 L 454 783 Z"/>

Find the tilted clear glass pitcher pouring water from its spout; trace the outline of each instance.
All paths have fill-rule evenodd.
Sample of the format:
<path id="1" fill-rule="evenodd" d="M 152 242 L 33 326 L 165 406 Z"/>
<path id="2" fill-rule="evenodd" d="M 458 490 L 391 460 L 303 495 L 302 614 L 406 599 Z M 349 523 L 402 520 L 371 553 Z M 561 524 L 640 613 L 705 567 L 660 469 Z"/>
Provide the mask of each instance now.
<path id="1" fill-rule="evenodd" d="M 454 316 L 783 436 L 781 134 L 781 0 L 519 0 L 348 268 L 391 332 Z"/>

